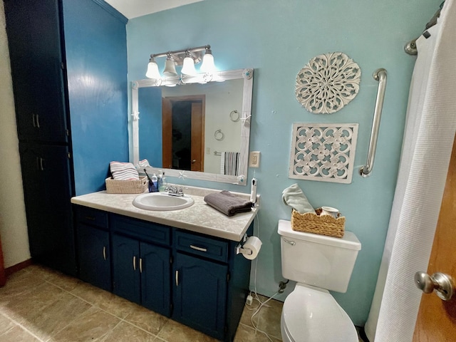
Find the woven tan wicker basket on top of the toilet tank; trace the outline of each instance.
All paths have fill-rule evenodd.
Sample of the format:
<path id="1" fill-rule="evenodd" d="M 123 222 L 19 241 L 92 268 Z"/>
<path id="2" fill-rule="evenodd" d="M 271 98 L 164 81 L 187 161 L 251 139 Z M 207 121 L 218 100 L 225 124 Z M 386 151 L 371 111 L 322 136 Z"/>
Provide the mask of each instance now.
<path id="1" fill-rule="evenodd" d="M 343 237 L 345 217 L 335 219 L 329 215 L 320 216 L 320 213 L 321 209 L 316 209 L 316 213 L 306 212 L 306 214 L 299 214 L 293 209 L 291 212 L 291 229 L 328 237 Z"/>

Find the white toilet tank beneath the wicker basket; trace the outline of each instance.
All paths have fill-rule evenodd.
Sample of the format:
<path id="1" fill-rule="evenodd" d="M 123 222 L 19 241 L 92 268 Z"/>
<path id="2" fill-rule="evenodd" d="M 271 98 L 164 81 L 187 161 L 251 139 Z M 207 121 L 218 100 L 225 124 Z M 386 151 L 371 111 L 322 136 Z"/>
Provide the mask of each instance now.
<path id="1" fill-rule="evenodd" d="M 361 242 L 352 232 L 342 238 L 296 232 L 279 220 L 282 276 L 302 284 L 346 292 Z"/>

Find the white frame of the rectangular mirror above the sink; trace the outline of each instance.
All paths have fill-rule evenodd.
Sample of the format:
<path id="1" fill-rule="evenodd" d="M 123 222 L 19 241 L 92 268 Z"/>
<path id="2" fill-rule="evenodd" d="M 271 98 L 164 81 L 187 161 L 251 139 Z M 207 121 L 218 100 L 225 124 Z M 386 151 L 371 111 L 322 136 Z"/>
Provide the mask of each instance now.
<path id="1" fill-rule="evenodd" d="M 147 172 L 155 172 L 162 170 L 165 172 L 165 175 L 170 177 L 187 177 L 192 180 L 205 180 L 209 182 L 221 182 L 221 183 L 231 183 L 237 185 L 247 185 L 247 171 L 248 171 L 248 162 L 249 162 L 249 140 L 250 140 L 250 120 L 252 118 L 252 93 L 253 93 L 253 76 L 254 69 L 237 69 L 229 71 L 217 71 L 212 75 L 212 81 L 210 82 L 219 82 L 219 81 L 228 81 L 244 78 L 244 90 L 242 94 L 242 115 L 241 115 L 241 155 L 239 157 L 239 176 L 231 175 L 218 175 L 215 173 L 207 172 L 197 172 L 197 171 L 183 171 L 177 169 L 166 169 L 162 167 L 147 167 Z M 153 79 L 145 79 L 132 81 L 131 83 L 131 103 L 132 103 L 132 120 L 131 122 L 131 133 L 130 143 L 133 145 L 130 151 L 133 150 L 133 157 L 130 156 L 130 162 L 133 162 L 134 165 L 138 165 L 140 160 L 140 144 L 139 144 L 139 99 L 138 99 L 138 89 L 145 87 L 157 87 L 163 86 L 168 82 L 168 78 L 163 78 L 162 81 L 157 82 Z"/>

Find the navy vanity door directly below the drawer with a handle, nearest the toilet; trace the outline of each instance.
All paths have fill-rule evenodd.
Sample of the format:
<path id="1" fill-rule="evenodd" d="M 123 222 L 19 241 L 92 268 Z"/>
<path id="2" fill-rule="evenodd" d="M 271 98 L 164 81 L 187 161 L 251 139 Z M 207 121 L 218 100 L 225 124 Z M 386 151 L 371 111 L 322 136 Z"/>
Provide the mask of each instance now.
<path id="1" fill-rule="evenodd" d="M 172 318 L 219 339 L 227 307 L 226 264 L 177 253 Z"/>

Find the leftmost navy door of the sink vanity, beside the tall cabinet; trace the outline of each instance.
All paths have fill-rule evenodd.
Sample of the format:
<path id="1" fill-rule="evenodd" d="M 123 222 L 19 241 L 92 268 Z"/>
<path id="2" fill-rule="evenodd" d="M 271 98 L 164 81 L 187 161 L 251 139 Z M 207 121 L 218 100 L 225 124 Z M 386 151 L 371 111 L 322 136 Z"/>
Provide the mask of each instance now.
<path id="1" fill-rule="evenodd" d="M 109 233 L 78 223 L 79 276 L 83 281 L 111 291 Z"/>

